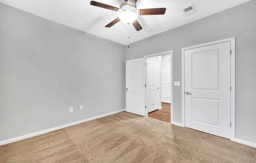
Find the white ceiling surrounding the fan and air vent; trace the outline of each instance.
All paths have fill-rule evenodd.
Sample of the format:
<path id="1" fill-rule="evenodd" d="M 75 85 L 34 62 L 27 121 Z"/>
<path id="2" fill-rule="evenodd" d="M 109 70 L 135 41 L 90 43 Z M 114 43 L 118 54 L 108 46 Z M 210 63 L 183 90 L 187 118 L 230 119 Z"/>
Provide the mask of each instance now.
<path id="1" fill-rule="evenodd" d="M 119 7 L 124 0 L 96 0 Z M 143 27 L 136 31 L 132 25 L 119 22 L 104 27 L 119 16 L 118 12 L 90 5 L 90 0 L 0 0 L 1 3 L 21 9 L 60 24 L 128 45 L 169 29 L 193 22 L 250 0 L 137 0 L 137 9 L 166 7 L 165 15 L 139 16 Z M 195 5 L 197 13 L 185 16 L 182 9 Z M 152 29 L 148 31 L 147 29 Z M 130 36 L 130 39 L 129 39 Z"/>

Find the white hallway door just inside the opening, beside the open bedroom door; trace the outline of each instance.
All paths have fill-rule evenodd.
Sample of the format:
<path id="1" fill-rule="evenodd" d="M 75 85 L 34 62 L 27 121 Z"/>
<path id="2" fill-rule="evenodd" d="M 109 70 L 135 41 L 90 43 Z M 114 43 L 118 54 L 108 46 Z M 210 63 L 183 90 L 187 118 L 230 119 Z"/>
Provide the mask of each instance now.
<path id="1" fill-rule="evenodd" d="M 160 108 L 160 64 L 155 58 L 147 58 L 147 108 L 152 112 Z"/>

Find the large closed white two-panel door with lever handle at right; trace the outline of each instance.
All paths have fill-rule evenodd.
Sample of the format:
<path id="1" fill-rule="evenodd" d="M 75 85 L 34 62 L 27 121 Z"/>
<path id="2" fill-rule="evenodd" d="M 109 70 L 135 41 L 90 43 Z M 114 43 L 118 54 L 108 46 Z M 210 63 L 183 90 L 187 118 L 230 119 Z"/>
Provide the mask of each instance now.
<path id="1" fill-rule="evenodd" d="M 185 127 L 230 138 L 230 42 L 185 51 Z"/>

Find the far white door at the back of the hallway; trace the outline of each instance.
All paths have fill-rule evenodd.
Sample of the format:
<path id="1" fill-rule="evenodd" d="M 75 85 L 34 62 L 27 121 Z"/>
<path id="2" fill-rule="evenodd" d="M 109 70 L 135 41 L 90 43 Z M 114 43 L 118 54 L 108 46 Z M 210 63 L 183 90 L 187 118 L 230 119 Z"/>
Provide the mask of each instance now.
<path id="1" fill-rule="evenodd" d="M 161 68 L 161 101 L 171 103 L 171 66 L 162 66 Z"/>

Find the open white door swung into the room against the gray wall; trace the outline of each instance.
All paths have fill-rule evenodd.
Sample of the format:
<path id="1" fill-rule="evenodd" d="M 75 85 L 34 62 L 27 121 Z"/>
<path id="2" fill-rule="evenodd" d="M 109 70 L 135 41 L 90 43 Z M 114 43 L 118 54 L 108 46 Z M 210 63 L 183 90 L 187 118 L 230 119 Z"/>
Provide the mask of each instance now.
<path id="1" fill-rule="evenodd" d="M 144 58 L 126 61 L 126 111 L 146 116 Z"/>

